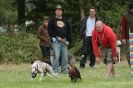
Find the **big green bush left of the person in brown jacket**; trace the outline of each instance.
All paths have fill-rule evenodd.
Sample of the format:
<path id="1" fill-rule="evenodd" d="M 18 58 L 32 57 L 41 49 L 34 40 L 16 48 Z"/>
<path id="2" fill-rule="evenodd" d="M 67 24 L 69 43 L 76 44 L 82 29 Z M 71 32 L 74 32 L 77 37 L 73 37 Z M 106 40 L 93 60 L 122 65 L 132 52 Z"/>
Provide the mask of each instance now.
<path id="1" fill-rule="evenodd" d="M 33 34 L 0 34 L 0 62 L 18 64 L 35 60 L 40 57 L 38 45 Z"/>

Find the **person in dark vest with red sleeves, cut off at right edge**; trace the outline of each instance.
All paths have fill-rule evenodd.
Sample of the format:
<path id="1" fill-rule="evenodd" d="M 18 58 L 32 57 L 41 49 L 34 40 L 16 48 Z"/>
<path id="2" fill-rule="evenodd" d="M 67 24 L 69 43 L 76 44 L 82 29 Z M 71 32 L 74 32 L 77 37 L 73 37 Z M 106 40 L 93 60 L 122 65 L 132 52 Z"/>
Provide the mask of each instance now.
<path id="1" fill-rule="evenodd" d="M 122 42 L 125 44 L 127 49 L 127 61 L 130 66 L 129 58 L 129 31 L 133 33 L 133 3 L 128 5 L 128 12 L 125 13 L 121 18 L 121 33 L 122 33 Z"/>

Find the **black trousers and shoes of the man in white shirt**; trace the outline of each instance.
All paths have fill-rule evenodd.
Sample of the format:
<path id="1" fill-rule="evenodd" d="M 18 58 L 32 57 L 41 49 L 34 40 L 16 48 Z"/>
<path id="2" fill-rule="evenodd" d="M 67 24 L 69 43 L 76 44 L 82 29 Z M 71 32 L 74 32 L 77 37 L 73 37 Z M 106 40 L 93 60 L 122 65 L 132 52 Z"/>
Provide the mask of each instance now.
<path id="1" fill-rule="evenodd" d="M 86 37 L 83 40 L 83 50 L 82 50 L 82 58 L 80 61 L 80 67 L 85 67 L 87 55 L 89 55 L 89 60 L 90 60 L 89 66 L 94 66 L 95 65 L 95 56 L 93 53 L 92 38 L 91 37 Z"/>

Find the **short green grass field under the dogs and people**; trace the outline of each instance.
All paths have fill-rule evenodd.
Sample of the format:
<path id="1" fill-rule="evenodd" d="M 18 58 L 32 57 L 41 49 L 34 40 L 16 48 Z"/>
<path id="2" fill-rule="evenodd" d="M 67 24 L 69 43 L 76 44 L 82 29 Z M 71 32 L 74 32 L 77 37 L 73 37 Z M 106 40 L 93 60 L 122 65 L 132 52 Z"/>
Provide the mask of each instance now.
<path id="1" fill-rule="evenodd" d="M 78 66 L 78 65 L 77 65 Z M 86 66 L 79 69 L 82 80 L 71 83 L 66 74 L 59 74 L 60 79 L 45 77 L 41 82 L 39 76 L 31 80 L 31 65 L 0 65 L 0 88 L 132 88 L 133 78 L 129 76 L 126 61 L 116 65 L 117 76 L 105 79 L 106 67 L 103 63 L 94 69 Z"/>

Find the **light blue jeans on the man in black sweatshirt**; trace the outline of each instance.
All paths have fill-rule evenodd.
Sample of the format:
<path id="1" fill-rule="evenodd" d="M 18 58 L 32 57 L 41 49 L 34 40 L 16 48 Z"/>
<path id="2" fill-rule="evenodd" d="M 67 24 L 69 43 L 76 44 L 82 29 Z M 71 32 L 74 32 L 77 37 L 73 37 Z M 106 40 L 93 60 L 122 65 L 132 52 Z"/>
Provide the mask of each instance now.
<path id="1" fill-rule="evenodd" d="M 56 73 L 63 72 L 68 73 L 67 63 L 68 63 L 68 54 L 67 46 L 62 42 L 53 43 L 53 49 L 55 51 L 55 57 L 53 59 L 53 70 Z M 61 69 L 59 66 L 59 58 L 61 57 Z M 61 71 L 60 71 L 61 70 Z"/>

